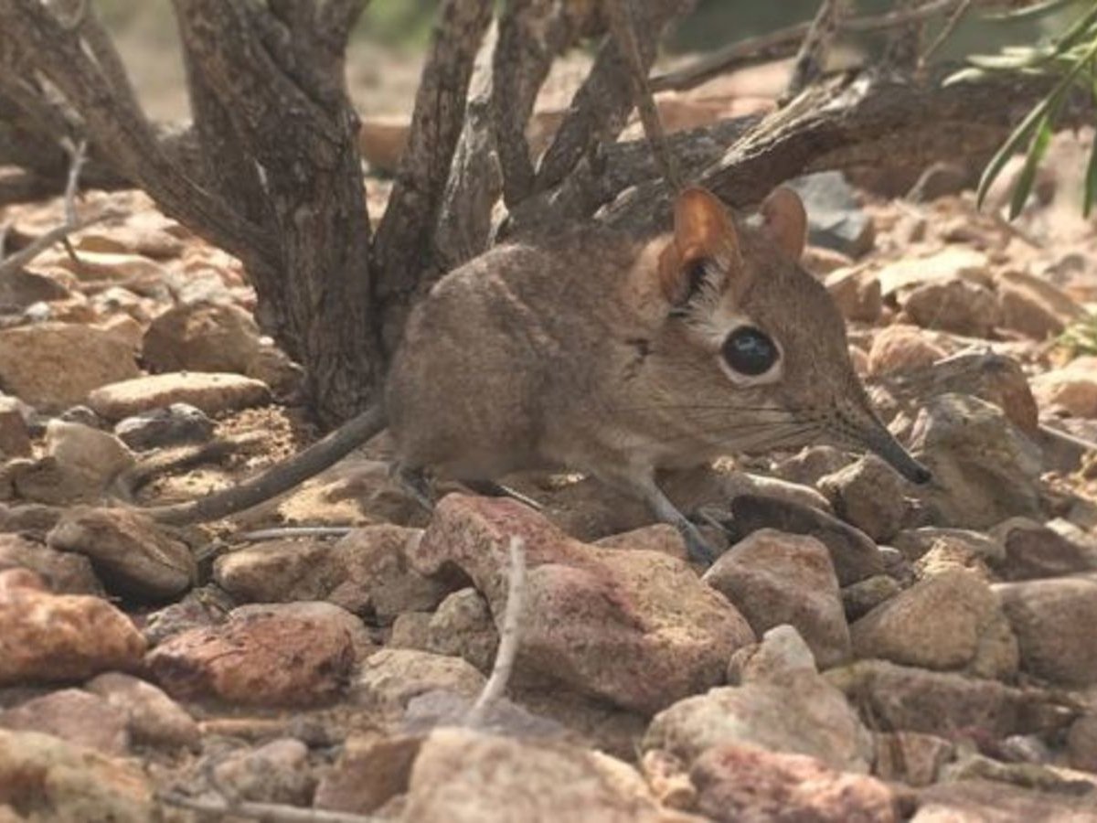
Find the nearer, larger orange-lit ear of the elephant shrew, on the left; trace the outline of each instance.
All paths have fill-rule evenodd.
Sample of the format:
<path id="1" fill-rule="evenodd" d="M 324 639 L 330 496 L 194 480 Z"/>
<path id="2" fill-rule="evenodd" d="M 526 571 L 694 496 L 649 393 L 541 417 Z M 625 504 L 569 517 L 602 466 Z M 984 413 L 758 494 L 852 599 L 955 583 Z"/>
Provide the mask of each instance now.
<path id="1" fill-rule="evenodd" d="M 739 241 L 724 204 L 703 189 L 687 189 L 675 200 L 675 237 L 659 256 L 659 285 L 671 305 L 681 306 L 705 278 L 738 270 Z"/>

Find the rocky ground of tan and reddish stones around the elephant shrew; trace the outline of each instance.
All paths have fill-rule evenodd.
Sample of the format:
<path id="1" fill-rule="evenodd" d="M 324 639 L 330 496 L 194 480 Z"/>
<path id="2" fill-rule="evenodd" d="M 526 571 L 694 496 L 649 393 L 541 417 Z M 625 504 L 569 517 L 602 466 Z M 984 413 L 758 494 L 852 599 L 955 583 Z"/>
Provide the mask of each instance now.
<path id="1" fill-rule="evenodd" d="M 383 439 L 230 523 L 102 508 L 315 432 L 239 264 L 88 193 L 116 216 L 0 281 L 0 821 L 1097 821 L 1097 234 L 1083 147 L 1050 156 L 1015 224 L 949 169 L 802 183 L 805 264 L 936 483 L 828 447 L 669 478 L 726 522 L 708 570 L 579 477 L 428 518 Z M 9 207 L 8 248 L 61 216 Z M 251 533 L 306 522 L 352 528 Z M 475 713 L 513 534 L 516 669 Z"/>

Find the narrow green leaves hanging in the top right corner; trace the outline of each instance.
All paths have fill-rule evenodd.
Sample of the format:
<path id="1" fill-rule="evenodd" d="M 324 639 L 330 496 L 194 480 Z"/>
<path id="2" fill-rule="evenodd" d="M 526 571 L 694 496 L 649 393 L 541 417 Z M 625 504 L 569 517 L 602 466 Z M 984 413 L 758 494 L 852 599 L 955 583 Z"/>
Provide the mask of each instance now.
<path id="1" fill-rule="evenodd" d="M 997 15 L 998 20 L 1017 20 L 1061 12 L 1076 7 L 1075 0 L 1044 0 L 1044 2 Z M 991 184 L 1006 162 L 1018 151 L 1025 150 L 1025 166 L 1014 187 L 1009 201 L 1009 218 L 1020 214 L 1032 183 L 1037 167 L 1043 160 L 1055 131 L 1063 104 L 1075 90 L 1090 95 L 1097 106 L 1097 2 L 1086 2 L 1085 10 L 1065 27 L 1062 34 L 1048 43 L 1034 46 L 1008 46 L 996 55 L 969 57 L 970 68 L 950 77 L 946 82 L 977 80 L 992 74 L 1014 72 L 1055 78 L 1055 83 L 1040 102 L 1025 116 L 987 162 L 979 181 L 979 204 L 983 204 Z M 1097 140 L 1090 150 L 1086 170 L 1083 213 L 1088 216 L 1097 196 Z"/>

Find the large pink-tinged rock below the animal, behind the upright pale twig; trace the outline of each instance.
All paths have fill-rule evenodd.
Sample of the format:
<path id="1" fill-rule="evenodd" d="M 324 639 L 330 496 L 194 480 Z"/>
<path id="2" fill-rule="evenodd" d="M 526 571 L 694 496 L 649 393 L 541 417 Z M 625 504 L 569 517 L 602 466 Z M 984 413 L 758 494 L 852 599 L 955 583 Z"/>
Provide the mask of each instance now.
<path id="1" fill-rule="evenodd" d="M 527 589 L 518 668 L 638 711 L 657 711 L 723 679 L 750 627 L 682 561 L 584 544 L 513 500 L 449 495 L 412 565 L 456 565 L 496 621 L 508 589 L 509 541 L 525 542 Z"/>

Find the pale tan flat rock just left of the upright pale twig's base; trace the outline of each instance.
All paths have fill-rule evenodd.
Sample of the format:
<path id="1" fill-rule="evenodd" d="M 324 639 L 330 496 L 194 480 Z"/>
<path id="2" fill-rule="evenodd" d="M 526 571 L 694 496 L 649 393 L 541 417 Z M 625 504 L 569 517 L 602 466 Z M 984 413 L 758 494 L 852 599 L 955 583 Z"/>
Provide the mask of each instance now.
<path id="1" fill-rule="evenodd" d="M 476 697 L 486 678 L 460 657 L 412 649 L 383 649 L 371 655 L 351 689 L 359 706 L 402 710 L 428 691 Z"/>

